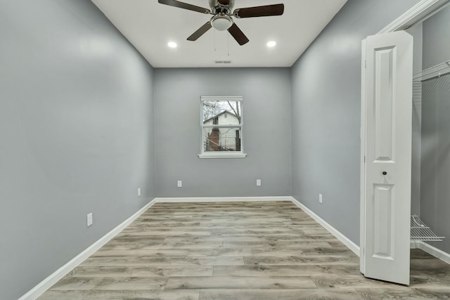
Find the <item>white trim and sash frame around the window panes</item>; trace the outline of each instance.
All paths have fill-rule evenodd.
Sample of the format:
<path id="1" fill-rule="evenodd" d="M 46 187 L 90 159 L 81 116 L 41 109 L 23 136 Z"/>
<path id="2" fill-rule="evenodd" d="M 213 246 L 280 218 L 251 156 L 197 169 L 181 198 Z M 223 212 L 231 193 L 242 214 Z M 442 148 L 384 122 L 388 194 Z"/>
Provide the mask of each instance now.
<path id="1" fill-rule="evenodd" d="M 240 101 L 240 151 L 230 152 L 205 152 L 203 150 L 203 102 L 205 101 Z M 208 127 L 208 126 L 207 126 Z M 214 127 L 234 127 L 229 125 L 215 125 Z M 245 158 L 247 154 L 244 152 L 244 113 L 243 113 L 243 96 L 200 96 L 200 154 L 198 158 Z"/>

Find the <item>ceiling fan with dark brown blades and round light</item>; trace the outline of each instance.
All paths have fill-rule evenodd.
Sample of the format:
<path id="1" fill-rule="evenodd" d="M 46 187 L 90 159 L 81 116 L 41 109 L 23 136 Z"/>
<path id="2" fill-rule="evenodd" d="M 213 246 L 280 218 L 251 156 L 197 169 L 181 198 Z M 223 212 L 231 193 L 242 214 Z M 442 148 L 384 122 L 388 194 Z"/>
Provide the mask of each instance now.
<path id="1" fill-rule="evenodd" d="M 209 0 L 210 8 L 203 8 L 192 4 L 186 4 L 184 2 L 176 0 L 158 0 L 160 4 L 174 6 L 178 8 L 188 9 L 189 11 L 197 11 L 198 13 L 205 13 L 207 15 L 213 15 L 211 20 L 200 27 L 196 32 L 188 37 L 188 41 L 196 41 L 205 32 L 214 27 L 216 30 L 224 31 L 228 30 L 231 36 L 236 39 L 240 46 L 248 43 L 248 38 L 239 29 L 238 25 L 231 18 L 254 18 L 254 17 L 268 17 L 271 15 L 283 15 L 284 4 L 273 4 L 266 6 L 254 6 L 248 8 L 237 8 L 233 12 L 234 0 Z"/>

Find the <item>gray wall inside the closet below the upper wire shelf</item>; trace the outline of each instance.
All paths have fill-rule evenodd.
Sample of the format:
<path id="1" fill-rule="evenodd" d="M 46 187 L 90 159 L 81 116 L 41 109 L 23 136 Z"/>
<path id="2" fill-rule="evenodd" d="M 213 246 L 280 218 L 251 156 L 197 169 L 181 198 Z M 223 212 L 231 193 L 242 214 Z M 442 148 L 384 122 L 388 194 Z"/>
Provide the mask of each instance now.
<path id="1" fill-rule="evenodd" d="M 423 82 L 420 217 L 450 253 L 450 74 Z"/>

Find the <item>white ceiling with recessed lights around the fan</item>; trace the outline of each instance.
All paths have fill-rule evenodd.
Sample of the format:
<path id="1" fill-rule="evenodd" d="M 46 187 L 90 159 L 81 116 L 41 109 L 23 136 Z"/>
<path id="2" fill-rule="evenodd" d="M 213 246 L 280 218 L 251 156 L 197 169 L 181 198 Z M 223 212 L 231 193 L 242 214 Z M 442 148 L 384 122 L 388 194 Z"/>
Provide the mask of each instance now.
<path id="1" fill-rule="evenodd" d="M 236 0 L 235 7 L 285 4 L 281 16 L 234 19 L 250 39 L 239 46 L 228 32 L 211 29 L 187 41 L 211 15 L 157 0 L 92 0 L 153 67 L 290 67 L 347 0 Z M 183 0 L 210 8 L 208 0 Z M 167 43 L 175 41 L 177 48 Z M 274 48 L 267 41 L 276 41 Z M 214 50 L 215 48 L 215 50 Z M 231 60 L 231 64 L 216 64 Z"/>

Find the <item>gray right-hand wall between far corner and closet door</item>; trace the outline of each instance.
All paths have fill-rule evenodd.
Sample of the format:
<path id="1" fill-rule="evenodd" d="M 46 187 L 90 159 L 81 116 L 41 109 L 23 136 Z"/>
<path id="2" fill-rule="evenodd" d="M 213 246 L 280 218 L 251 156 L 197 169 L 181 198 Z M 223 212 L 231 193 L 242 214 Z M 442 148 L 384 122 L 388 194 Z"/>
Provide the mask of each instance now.
<path id="1" fill-rule="evenodd" d="M 349 0 L 292 69 L 293 197 L 356 244 L 361 40 L 417 2 Z"/>

